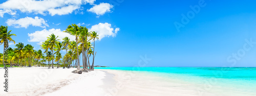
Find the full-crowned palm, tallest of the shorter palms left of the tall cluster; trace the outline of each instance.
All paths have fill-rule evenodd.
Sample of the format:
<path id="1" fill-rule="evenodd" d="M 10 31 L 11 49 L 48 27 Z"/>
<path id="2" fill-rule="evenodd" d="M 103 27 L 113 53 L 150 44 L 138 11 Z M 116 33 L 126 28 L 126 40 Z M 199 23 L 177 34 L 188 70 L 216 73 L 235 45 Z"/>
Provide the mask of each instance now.
<path id="1" fill-rule="evenodd" d="M 49 48 L 53 53 L 53 50 L 56 48 L 56 46 L 59 47 L 57 43 L 60 43 L 60 42 L 58 41 L 59 39 L 57 39 L 58 36 L 56 37 L 54 34 L 51 34 L 49 36 L 50 37 L 47 37 L 48 38 L 47 42 L 49 43 Z M 53 58 L 53 55 L 52 55 L 52 58 Z M 52 59 L 52 68 L 53 68 L 53 59 Z"/>

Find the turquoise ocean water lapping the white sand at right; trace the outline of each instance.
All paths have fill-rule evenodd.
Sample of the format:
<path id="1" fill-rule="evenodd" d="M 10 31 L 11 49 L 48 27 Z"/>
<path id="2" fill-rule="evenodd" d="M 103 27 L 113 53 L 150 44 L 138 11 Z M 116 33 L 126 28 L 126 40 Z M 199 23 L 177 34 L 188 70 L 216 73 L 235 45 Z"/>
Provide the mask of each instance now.
<path id="1" fill-rule="evenodd" d="M 95 67 L 95 69 L 143 71 L 201 86 L 250 92 L 256 95 L 256 67 Z"/>

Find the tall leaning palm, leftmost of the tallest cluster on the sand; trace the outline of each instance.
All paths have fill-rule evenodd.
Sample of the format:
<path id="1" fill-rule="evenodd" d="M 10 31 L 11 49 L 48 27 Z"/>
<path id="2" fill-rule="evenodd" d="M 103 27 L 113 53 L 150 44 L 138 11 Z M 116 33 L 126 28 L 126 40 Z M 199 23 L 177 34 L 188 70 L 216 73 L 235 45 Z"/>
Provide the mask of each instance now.
<path id="1" fill-rule="evenodd" d="M 64 32 L 67 32 L 67 33 L 69 33 L 69 34 L 71 34 L 71 35 L 74 35 L 74 36 L 76 36 L 76 48 L 77 48 L 77 53 L 78 53 L 78 36 L 79 36 L 79 34 L 80 34 L 80 32 L 79 32 L 79 27 L 76 25 L 76 24 L 72 24 L 72 26 L 68 26 L 68 28 L 66 29 L 66 31 L 64 31 Z M 77 69 L 80 69 L 80 63 L 79 63 L 79 55 L 77 54 Z"/>

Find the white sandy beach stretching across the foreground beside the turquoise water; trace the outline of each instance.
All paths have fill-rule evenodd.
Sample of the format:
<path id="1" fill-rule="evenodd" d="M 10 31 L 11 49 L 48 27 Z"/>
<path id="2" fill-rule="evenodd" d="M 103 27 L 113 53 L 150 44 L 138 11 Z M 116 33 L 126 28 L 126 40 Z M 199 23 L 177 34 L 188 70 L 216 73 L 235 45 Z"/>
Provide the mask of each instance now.
<path id="1" fill-rule="evenodd" d="M 1 95 L 253 95 L 214 88 L 199 90 L 201 85 L 177 81 L 138 71 L 95 69 L 89 73 L 73 74 L 76 68 L 47 67 L 10 68 L 9 92 Z M 4 69 L 0 69 L 4 74 Z M 4 82 L 3 76 L 0 81 Z M 4 86 L 3 84 L 1 84 Z"/>

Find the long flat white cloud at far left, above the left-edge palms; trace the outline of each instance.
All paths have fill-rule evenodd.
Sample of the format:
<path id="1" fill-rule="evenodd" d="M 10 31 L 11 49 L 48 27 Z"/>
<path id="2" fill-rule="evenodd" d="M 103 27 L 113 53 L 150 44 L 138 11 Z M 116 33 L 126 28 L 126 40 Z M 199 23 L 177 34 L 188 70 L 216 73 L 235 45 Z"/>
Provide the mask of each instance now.
<path id="1" fill-rule="evenodd" d="M 41 28 L 49 27 L 45 19 L 39 18 L 37 16 L 35 18 L 25 17 L 18 20 L 8 19 L 6 23 L 8 26 L 14 26 L 15 28 L 28 28 L 30 25 Z"/>

